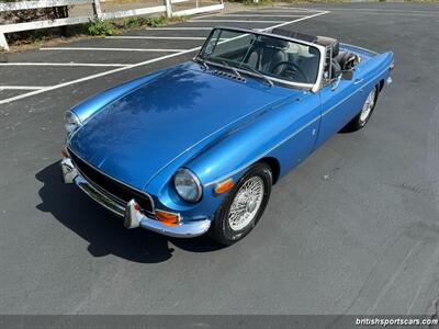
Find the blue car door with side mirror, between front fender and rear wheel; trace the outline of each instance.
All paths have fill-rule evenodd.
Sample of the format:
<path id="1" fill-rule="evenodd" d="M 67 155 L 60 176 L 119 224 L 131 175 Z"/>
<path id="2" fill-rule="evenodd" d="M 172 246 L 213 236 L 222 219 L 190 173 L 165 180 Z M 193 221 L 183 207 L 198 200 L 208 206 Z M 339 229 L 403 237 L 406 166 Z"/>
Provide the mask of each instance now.
<path id="1" fill-rule="evenodd" d="M 338 86 L 337 82 L 326 83 L 320 89 L 322 121 L 316 147 L 338 133 L 359 113 L 368 97 L 363 90 L 364 84 L 364 72 L 358 67 L 351 80 L 341 79 Z"/>

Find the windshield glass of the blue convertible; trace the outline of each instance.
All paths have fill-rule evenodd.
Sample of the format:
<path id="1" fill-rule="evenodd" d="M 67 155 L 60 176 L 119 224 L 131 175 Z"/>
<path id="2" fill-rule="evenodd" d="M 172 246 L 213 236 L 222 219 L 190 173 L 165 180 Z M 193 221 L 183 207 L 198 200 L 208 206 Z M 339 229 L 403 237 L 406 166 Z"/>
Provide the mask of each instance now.
<path id="1" fill-rule="evenodd" d="M 198 57 L 274 80 L 305 84 L 316 82 L 320 60 L 317 47 L 227 29 L 215 29 Z"/>

